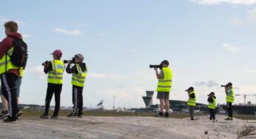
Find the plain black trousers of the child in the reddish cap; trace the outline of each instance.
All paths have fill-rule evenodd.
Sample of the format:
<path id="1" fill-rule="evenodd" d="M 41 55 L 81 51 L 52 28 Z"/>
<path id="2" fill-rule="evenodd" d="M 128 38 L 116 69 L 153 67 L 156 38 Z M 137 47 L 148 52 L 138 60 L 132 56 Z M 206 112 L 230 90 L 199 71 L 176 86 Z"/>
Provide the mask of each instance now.
<path id="1" fill-rule="evenodd" d="M 48 115 L 49 107 L 50 107 L 50 101 L 53 98 L 53 93 L 55 97 L 55 109 L 53 115 L 58 115 L 59 107 L 61 104 L 61 89 L 62 84 L 50 84 L 48 83 L 47 87 L 47 95 L 45 98 L 45 115 Z"/>

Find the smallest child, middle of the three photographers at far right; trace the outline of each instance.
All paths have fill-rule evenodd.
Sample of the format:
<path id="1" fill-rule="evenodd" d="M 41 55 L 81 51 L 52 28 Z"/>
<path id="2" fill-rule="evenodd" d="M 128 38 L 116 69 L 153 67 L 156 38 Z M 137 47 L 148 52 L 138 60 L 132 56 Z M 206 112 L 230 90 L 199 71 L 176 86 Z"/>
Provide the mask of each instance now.
<path id="1" fill-rule="evenodd" d="M 216 108 L 216 97 L 215 97 L 215 92 L 211 92 L 208 98 L 208 108 L 210 112 L 210 120 L 215 121 L 215 108 Z"/>

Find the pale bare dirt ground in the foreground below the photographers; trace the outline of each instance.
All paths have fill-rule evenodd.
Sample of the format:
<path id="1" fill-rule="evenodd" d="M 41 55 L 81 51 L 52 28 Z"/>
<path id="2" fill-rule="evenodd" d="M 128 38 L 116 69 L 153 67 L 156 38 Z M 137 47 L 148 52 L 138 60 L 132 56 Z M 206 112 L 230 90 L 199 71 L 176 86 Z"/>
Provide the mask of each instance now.
<path id="1" fill-rule="evenodd" d="M 217 122 L 206 116 L 196 121 L 149 117 L 21 118 L 16 124 L 0 123 L 0 138 L 256 138 L 256 121 L 224 118 L 219 116 Z"/>

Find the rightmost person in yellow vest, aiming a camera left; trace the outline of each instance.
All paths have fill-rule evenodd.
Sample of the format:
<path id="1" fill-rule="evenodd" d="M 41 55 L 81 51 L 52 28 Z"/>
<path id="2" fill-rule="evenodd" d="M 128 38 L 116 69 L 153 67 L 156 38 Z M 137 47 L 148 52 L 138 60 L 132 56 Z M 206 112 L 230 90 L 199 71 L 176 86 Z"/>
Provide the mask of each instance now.
<path id="1" fill-rule="evenodd" d="M 232 111 L 232 103 L 235 102 L 234 99 L 234 89 L 232 87 L 232 83 L 228 83 L 225 86 L 225 93 L 226 93 L 226 107 L 229 112 L 229 117 L 226 118 L 226 121 L 232 121 L 233 120 L 233 111 Z"/>

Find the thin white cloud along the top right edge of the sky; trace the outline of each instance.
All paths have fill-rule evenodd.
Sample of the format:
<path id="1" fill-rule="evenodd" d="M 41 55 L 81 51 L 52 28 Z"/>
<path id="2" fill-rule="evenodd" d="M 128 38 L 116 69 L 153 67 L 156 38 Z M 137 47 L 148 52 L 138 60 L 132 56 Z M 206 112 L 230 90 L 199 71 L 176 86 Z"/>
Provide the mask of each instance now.
<path id="1" fill-rule="evenodd" d="M 235 4 L 251 5 L 256 4 L 256 0 L 189 0 L 198 4 Z"/>

